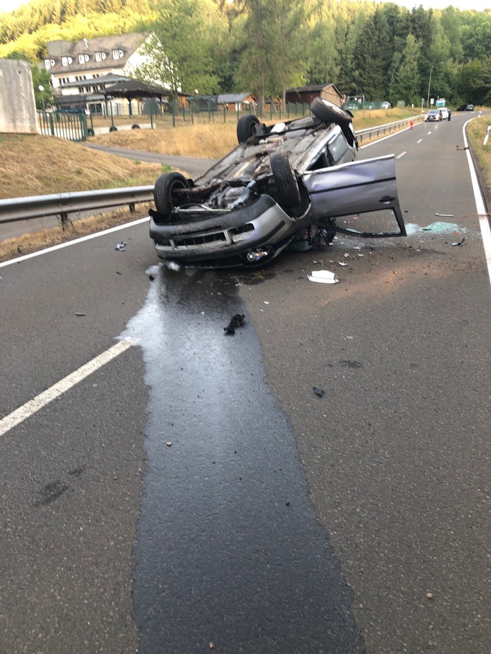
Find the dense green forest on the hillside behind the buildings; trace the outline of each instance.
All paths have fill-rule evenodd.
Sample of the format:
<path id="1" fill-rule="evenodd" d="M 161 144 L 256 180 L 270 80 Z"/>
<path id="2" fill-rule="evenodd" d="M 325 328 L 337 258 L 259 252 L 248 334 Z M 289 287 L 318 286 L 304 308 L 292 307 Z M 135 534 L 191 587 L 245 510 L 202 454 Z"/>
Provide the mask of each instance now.
<path id="1" fill-rule="evenodd" d="M 55 39 L 153 35 L 148 81 L 186 93 L 332 82 L 346 95 L 420 106 L 431 93 L 491 104 L 491 13 L 356 0 L 32 0 L 0 13 L 0 57 L 40 62 Z"/>

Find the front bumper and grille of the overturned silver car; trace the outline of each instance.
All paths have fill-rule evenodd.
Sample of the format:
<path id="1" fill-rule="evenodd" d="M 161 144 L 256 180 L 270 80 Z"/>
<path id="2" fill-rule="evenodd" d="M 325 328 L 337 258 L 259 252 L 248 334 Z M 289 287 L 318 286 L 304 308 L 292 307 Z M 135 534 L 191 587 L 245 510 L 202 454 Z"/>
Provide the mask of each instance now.
<path id="1" fill-rule="evenodd" d="M 196 213 L 196 212 L 195 212 Z M 270 195 L 261 195 L 249 206 L 210 215 L 203 210 L 200 220 L 160 224 L 150 218 L 150 238 L 154 240 L 158 257 L 167 261 L 199 263 L 223 260 L 230 265 L 248 264 L 248 253 L 258 248 L 272 258 L 309 223 L 308 210 L 292 218 Z M 176 214 L 177 215 L 177 214 Z"/>

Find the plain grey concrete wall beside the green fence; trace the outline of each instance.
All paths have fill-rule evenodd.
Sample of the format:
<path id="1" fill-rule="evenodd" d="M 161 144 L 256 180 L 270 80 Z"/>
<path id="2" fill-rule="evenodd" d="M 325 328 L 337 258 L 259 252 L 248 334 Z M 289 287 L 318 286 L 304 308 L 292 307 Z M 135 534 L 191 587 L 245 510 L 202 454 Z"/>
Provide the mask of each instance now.
<path id="1" fill-rule="evenodd" d="M 0 59 L 0 133 L 37 132 L 33 76 L 29 62 Z"/>

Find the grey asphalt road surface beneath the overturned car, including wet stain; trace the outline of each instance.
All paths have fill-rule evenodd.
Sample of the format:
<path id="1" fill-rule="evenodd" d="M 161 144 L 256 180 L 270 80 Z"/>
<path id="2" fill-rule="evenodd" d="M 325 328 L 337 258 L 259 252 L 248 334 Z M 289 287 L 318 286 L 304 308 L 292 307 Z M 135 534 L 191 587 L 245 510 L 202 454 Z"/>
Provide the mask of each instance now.
<path id="1" fill-rule="evenodd" d="M 135 344 L 0 436 L 1 652 L 488 653 L 468 117 L 360 151 L 398 157 L 407 238 L 216 273 L 144 222 L 0 268 L 1 415 Z"/>

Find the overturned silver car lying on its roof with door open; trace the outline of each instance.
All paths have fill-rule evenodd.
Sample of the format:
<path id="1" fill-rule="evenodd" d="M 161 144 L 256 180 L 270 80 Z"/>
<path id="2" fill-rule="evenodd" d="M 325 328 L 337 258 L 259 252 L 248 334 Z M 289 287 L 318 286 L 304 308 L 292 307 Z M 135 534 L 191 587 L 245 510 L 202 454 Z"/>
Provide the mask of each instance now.
<path id="1" fill-rule="evenodd" d="M 149 212 L 158 257 L 194 267 L 254 267 L 313 231 L 326 243 L 337 231 L 405 235 L 393 155 L 355 162 L 351 115 L 320 98 L 311 111 L 272 126 L 243 116 L 239 145 L 204 175 L 160 175 L 156 211 Z M 381 223 L 380 212 L 389 220 Z"/>

